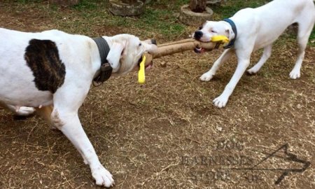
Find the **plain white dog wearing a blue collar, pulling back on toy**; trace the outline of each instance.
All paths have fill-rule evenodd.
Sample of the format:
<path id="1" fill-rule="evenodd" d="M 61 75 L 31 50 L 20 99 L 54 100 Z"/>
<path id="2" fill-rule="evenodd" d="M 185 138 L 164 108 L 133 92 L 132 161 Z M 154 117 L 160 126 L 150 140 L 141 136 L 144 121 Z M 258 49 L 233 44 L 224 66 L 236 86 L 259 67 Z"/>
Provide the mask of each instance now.
<path id="1" fill-rule="evenodd" d="M 200 80 L 211 80 L 219 66 L 227 61 L 232 53 L 235 52 L 237 55 L 237 69 L 223 93 L 214 99 L 214 105 L 223 108 L 227 104 L 235 86 L 249 65 L 251 52 L 264 48 L 259 62 L 248 69 L 248 73 L 257 73 L 270 57 L 272 43 L 293 23 L 298 25 L 298 53 L 290 78 L 299 78 L 304 50 L 314 22 L 315 8 L 312 0 L 274 0 L 258 8 L 239 10 L 232 18 L 225 21 L 208 21 L 195 31 L 194 37 L 204 42 L 210 41 L 211 36 L 216 35 L 225 35 L 230 39 L 230 44 L 226 47 L 228 49 L 214 62 L 211 69 L 200 77 Z"/>

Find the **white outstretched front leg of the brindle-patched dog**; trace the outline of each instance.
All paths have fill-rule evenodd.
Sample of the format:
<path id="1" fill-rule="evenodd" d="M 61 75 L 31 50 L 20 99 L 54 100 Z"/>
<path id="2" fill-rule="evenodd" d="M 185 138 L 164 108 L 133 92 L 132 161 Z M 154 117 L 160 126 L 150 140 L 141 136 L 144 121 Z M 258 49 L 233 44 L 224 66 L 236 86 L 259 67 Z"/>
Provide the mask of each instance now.
<path id="1" fill-rule="evenodd" d="M 80 123 L 78 111 L 63 108 L 54 107 L 51 114 L 52 123 L 76 146 L 85 163 L 90 165 L 92 176 L 97 185 L 113 186 L 113 176 L 99 162 L 99 158 L 97 158 L 97 154 Z"/>

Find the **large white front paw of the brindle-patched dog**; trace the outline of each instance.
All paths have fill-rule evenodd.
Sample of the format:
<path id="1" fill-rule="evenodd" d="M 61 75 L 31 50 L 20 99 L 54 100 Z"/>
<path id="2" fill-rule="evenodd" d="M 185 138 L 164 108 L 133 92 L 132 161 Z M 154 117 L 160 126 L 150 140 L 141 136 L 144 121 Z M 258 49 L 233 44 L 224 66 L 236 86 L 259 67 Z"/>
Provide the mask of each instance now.
<path id="1" fill-rule="evenodd" d="M 115 185 L 113 176 L 102 165 L 92 170 L 92 176 L 98 186 L 109 188 Z"/>

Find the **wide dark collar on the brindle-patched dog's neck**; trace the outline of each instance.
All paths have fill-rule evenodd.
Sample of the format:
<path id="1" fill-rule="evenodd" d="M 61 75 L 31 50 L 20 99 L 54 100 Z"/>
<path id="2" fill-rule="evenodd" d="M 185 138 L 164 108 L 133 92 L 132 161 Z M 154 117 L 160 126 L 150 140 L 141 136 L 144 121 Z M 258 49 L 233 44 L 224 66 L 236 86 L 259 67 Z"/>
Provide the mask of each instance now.
<path id="1" fill-rule="evenodd" d="M 99 74 L 93 79 L 93 84 L 99 85 L 111 77 L 113 68 L 106 59 L 107 55 L 109 55 L 109 44 L 102 37 L 93 38 L 93 40 L 97 43 L 99 56 L 101 57 L 101 68 L 99 69 Z"/>

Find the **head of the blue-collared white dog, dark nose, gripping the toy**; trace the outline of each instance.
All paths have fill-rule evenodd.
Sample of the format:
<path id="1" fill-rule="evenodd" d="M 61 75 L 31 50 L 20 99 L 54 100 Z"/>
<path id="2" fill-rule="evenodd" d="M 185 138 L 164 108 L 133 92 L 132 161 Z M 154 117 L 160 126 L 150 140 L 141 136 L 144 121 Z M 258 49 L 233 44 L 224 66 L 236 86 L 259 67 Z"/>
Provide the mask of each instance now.
<path id="1" fill-rule="evenodd" d="M 227 36 L 231 41 L 235 34 L 232 27 L 225 21 L 207 21 L 193 34 L 193 38 L 202 42 L 211 41 L 212 36 Z"/>

